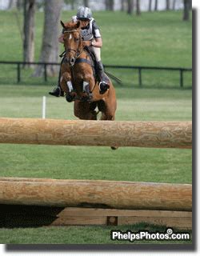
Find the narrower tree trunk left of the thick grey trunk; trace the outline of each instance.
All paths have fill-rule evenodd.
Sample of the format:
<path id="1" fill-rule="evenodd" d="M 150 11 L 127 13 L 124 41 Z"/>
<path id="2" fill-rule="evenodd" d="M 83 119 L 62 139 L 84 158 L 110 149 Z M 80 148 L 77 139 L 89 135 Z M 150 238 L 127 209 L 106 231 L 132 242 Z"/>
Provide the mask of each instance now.
<path id="1" fill-rule="evenodd" d="M 34 62 L 35 0 L 24 0 L 23 61 Z"/>

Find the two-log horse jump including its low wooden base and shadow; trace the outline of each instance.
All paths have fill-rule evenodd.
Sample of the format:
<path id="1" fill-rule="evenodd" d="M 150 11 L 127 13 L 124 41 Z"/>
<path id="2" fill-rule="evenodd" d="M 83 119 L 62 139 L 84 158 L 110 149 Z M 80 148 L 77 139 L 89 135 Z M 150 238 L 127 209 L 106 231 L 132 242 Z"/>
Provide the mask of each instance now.
<path id="1" fill-rule="evenodd" d="M 191 148 L 191 122 L 0 118 L 0 142 Z M 0 226 L 123 225 L 192 228 L 192 186 L 0 178 Z"/>

